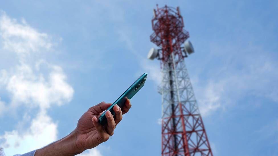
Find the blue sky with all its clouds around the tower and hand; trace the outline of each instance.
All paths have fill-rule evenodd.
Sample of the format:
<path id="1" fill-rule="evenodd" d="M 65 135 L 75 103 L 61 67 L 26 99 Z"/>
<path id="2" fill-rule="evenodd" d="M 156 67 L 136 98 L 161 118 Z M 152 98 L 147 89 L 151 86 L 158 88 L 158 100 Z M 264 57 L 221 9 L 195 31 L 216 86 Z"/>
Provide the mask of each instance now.
<path id="1" fill-rule="evenodd" d="M 7 155 L 66 136 L 143 72 L 148 80 L 113 137 L 83 155 L 160 155 L 160 64 L 146 59 L 157 3 L 181 9 L 195 48 L 185 62 L 214 155 L 278 155 L 277 1 L 1 1 Z"/>

